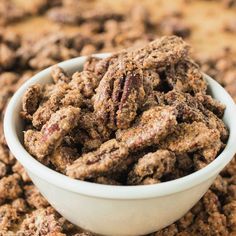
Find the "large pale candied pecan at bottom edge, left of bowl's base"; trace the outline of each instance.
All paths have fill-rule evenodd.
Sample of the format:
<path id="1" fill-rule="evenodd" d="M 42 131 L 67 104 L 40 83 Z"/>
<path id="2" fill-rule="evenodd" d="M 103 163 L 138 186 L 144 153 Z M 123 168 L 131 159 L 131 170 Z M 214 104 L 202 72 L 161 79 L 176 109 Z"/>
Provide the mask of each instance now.
<path id="1" fill-rule="evenodd" d="M 62 233 L 60 216 L 52 207 L 40 208 L 26 215 L 18 235 L 53 235 Z"/>

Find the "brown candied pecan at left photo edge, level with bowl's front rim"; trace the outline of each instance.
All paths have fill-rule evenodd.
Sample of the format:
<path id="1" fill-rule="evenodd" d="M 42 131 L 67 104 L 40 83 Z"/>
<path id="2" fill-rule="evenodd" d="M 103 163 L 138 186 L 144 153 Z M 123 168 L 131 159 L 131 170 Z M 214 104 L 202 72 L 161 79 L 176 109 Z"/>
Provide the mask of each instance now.
<path id="1" fill-rule="evenodd" d="M 0 204 L 6 200 L 14 200 L 22 194 L 20 176 L 12 174 L 0 179 Z"/>

